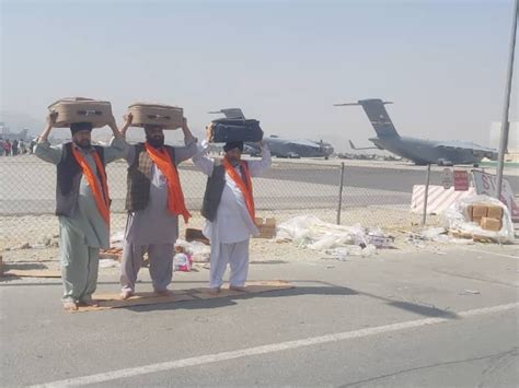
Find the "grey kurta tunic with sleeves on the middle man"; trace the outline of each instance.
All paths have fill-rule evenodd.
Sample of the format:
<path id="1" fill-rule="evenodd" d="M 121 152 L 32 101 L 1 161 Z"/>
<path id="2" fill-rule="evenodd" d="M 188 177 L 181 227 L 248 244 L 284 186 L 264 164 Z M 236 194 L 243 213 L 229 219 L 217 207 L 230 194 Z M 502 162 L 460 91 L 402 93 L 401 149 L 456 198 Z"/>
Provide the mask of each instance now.
<path id="1" fill-rule="evenodd" d="M 196 140 L 175 146 L 175 163 L 188 160 L 197 152 Z M 128 165 L 135 161 L 135 146 L 128 146 Z M 150 199 L 143 210 L 128 214 L 126 240 L 132 245 L 174 244 L 178 237 L 178 216 L 168 210 L 168 180 L 153 163 Z"/>

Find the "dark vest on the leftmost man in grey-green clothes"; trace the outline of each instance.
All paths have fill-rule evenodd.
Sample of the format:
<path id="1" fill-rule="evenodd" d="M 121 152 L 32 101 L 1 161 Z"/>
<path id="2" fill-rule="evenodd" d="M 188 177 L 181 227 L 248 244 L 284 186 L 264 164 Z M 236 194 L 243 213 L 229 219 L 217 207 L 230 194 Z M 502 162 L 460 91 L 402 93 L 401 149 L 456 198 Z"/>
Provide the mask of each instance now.
<path id="1" fill-rule="evenodd" d="M 93 146 L 100 155 L 104 167 L 104 150 L 102 146 Z M 104 168 L 103 168 L 104 169 Z M 100 172 L 95 169 L 101 180 Z M 65 143 L 61 161 L 57 165 L 58 177 L 56 179 L 56 215 L 72 216 L 78 207 L 79 186 L 83 172 L 72 153 L 72 143 Z M 105 172 L 106 174 L 106 172 Z"/>

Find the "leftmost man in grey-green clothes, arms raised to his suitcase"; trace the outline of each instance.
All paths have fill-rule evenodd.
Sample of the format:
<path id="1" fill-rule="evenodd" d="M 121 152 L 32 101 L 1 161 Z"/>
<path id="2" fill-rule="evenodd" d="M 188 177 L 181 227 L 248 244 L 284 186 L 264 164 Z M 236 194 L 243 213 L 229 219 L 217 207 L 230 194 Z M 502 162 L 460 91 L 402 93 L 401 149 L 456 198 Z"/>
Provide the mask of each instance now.
<path id="1" fill-rule="evenodd" d="M 64 282 L 64 308 L 78 304 L 96 306 L 92 299 L 97 283 L 100 248 L 109 247 L 109 197 L 105 165 L 125 155 L 126 142 L 111 116 L 114 138 L 108 146 L 91 144 L 91 122 L 70 125 L 72 142 L 50 145 L 48 136 L 56 124 L 49 114 L 35 154 L 57 165 L 56 214 Z"/>

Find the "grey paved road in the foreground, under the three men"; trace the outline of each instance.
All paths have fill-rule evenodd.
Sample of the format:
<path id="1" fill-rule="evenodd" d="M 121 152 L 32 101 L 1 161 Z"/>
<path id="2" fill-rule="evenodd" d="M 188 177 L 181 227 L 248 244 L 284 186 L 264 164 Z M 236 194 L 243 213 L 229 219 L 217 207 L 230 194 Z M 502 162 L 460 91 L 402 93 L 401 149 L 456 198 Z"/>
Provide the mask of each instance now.
<path id="1" fill-rule="evenodd" d="M 291 257 L 250 277 L 289 291 L 81 314 L 60 310 L 57 281 L 3 281 L 0 383 L 512 387 L 517 264 L 517 246 Z M 206 279 L 182 273 L 174 289 Z M 117 289 L 114 274 L 100 283 Z"/>

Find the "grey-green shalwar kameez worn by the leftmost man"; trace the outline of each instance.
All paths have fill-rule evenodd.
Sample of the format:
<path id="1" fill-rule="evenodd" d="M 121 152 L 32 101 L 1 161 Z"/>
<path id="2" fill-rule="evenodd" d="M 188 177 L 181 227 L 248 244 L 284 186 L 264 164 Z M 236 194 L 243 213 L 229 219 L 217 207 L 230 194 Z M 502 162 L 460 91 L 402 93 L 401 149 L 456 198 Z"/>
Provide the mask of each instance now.
<path id="1" fill-rule="evenodd" d="M 95 172 L 97 167 L 91 152 L 79 150 Z M 61 161 L 62 145 L 54 146 L 49 142 L 42 142 L 36 144 L 34 152 L 39 158 L 58 164 Z M 124 157 L 125 152 L 126 141 L 114 138 L 111 145 L 104 148 L 104 161 L 109 163 Z M 95 177 L 97 179 L 96 174 Z M 88 302 L 96 287 L 99 251 L 100 248 L 109 246 L 109 235 L 108 225 L 97 210 L 84 176 L 81 176 L 78 208 L 74 214 L 59 216 L 59 236 L 64 302 Z"/>

